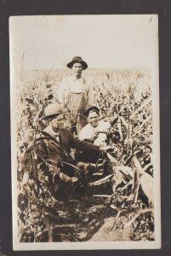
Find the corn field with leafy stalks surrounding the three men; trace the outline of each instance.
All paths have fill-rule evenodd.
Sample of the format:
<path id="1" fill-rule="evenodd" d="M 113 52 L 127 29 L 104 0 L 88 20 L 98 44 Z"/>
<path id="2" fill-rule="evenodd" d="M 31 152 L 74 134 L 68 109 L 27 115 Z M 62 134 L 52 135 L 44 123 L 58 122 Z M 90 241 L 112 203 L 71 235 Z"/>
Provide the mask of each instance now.
<path id="1" fill-rule="evenodd" d="M 58 201 L 29 148 L 43 128 L 43 109 L 66 70 L 19 74 L 17 115 L 18 226 L 20 241 L 155 240 L 152 166 L 151 75 L 144 69 L 90 69 L 100 118 L 111 124 L 100 156 L 102 172 L 88 183 L 86 201 Z M 74 157 L 74 156 L 73 156 Z M 38 176 L 38 178 L 37 178 Z M 95 236 L 105 223 L 101 236 Z M 107 234 L 109 235 L 107 237 Z"/>

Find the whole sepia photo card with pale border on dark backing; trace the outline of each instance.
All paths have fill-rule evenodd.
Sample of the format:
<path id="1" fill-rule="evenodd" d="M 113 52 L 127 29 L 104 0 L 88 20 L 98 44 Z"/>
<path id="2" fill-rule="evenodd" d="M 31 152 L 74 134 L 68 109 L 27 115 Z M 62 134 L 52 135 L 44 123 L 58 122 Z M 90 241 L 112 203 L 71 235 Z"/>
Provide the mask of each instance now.
<path id="1" fill-rule="evenodd" d="M 161 247 L 157 15 L 9 18 L 14 250 Z"/>

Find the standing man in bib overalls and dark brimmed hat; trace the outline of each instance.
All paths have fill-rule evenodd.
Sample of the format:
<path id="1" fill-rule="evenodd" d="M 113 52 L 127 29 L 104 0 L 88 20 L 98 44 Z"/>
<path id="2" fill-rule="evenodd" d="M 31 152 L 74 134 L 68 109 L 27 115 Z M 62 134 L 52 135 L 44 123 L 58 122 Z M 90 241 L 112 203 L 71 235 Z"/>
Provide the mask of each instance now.
<path id="1" fill-rule="evenodd" d="M 71 68 L 71 75 L 62 79 L 57 91 L 57 102 L 60 103 L 60 108 L 68 112 L 71 126 L 75 126 L 76 133 L 79 133 L 87 124 L 83 113 L 87 104 L 93 104 L 94 93 L 92 86 L 82 77 L 88 64 L 81 57 L 73 57 L 66 66 Z"/>

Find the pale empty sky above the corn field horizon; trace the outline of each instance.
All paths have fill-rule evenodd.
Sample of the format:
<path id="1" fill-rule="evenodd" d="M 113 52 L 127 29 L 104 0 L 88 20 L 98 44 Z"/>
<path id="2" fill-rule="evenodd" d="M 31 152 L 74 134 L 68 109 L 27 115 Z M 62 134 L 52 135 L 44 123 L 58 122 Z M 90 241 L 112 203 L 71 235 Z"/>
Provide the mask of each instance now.
<path id="1" fill-rule="evenodd" d="M 157 15 L 15 16 L 9 20 L 12 67 L 66 68 L 73 56 L 94 67 L 151 67 Z"/>

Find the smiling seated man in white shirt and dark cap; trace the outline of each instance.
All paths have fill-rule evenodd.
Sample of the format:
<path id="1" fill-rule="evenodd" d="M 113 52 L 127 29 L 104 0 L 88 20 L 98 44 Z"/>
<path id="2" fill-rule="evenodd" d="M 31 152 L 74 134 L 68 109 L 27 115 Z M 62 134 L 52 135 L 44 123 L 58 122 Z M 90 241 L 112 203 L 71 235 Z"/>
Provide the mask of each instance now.
<path id="1" fill-rule="evenodd" d="M 96 106 L 88 106 L 84 115 L 88 125 L 85 125 L 79 134 L 79 139 L 102 146 L 105 144 L 106 133 L 110 129 L 110 123 L 100 120 L 100 109 Z"/>

